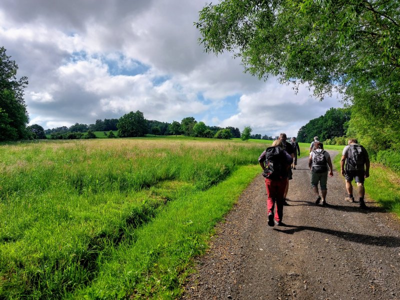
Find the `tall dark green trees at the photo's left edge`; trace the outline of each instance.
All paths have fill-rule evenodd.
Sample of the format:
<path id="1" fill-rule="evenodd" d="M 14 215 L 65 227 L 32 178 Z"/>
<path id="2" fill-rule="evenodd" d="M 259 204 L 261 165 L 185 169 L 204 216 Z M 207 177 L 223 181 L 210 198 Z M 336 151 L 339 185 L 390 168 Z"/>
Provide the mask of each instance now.
<path id="1" fill-rule="evenodd" d="M 10 57 L 0 47 L 0 140 L 27 138 L 29 134 L 26 130 L 29 117 L 23 99 L 28 81 L 25 76 L 16 78 L 18 66 Z"/>

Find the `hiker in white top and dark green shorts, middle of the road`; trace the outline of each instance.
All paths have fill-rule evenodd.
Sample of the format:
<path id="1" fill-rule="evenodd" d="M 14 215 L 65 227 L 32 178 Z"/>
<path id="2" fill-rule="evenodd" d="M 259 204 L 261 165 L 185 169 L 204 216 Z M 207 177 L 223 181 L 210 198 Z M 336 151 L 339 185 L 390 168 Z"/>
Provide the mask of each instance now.
<path id="1" fill-rule="evenodd" d="M 321 188 L 322 206 L 326 205 L 326 182 L 329 177 L 333 176 L 332 161 L 330 155 L 323 149 L 323 145 L 319 140 L 314 141 L 314 150 L 311 151 L 308 159 L 308 167 L 311 170 L 311 188 L 316 196 L 315 204 L 319 204 L 321 196 L 318 191 L 318 182 Z"/>

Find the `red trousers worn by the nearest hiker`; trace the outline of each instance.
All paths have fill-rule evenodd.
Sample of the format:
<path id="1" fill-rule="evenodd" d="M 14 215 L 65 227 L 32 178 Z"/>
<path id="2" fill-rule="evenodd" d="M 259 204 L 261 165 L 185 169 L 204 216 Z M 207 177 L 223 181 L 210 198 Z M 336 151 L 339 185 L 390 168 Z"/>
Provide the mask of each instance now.
<path id="1" fill-rule="evenodd" d="M 286 178 L 283 180 L 271 180 L 265 178 L 265 187 L 268 197 L 266 199 L 267 214 L 273 213 L 276 202 L 275 220 L 281 221 L 283 216 L 283 194 L 286 187 Z"/>

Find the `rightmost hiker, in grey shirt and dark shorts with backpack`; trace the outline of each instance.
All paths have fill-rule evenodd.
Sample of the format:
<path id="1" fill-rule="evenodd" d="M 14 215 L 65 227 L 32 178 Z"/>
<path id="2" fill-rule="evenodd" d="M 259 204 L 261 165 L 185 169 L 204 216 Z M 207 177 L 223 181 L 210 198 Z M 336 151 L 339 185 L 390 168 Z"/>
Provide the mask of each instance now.
<path id="1" fill-rule="evenodd" d="M 344 167 L 344 161 L 345 167 Z M 348 140 L 348 145 L 343 149 L 340 160 L 340 171 L 346 179 L 347 196 L 344 200 L 354 202 L 353 186 L 351 181 L 354 179 L 357 184 L 359 207 L 367 209 L 364 202 L 364 178 L 369 177 L 369 157 L 368 152 L 363 146 L 357 143 L 355 138 Z"/>

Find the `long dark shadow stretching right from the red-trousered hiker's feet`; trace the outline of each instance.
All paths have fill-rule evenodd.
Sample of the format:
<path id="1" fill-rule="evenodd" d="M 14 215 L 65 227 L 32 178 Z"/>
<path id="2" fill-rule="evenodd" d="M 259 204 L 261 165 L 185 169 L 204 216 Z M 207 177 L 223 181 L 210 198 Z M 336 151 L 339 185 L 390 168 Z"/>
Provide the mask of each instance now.
<path id="1" fill-rule="evenodd" d="M 348 241 L 354 241 L 357 243 L 362 243 L 365 245 L 375 245 L 375 246 L 384 246 L 384 247 L 398 247 L 400 246 L 400 237 L 397 236 L 373 236 L 368 234 L 354 233 L 354 232 L 346 232 L 339 231 L 327 228 L 319 228 L 313 226 L 294 226 L 294 225 L 285 225 L 285 227 L 290 227 L 291 229 L 278 229 L 273 228 L 276 231 L 293 234 L 295 232 L 299 232 L 302 230 L 309 230 L 315 232 L 321 232 L 325 234 L 330 234 L 342 238 Z"/>

